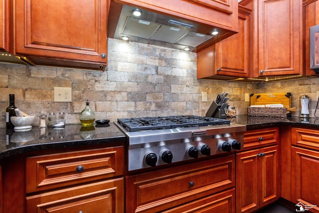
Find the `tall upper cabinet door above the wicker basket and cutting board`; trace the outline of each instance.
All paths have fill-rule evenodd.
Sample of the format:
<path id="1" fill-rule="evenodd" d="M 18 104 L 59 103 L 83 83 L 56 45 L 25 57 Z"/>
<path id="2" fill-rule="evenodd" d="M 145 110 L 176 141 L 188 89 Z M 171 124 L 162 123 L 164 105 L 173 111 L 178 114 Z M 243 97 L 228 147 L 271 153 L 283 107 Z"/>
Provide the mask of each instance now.
<path id="1" fill-rule="evenodd" d="M 302 0 L 258 0 L 257 14 L 254 77 L 302 74 Z"/>

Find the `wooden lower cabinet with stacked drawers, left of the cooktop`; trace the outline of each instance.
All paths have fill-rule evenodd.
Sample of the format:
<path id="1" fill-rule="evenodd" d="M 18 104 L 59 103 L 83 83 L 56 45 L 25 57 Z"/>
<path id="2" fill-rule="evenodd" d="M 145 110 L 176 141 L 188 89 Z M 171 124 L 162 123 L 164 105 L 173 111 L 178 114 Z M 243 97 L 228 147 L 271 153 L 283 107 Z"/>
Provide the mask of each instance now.
<path id="1" fill-rule="evenodd" d="M 124 213 L 124 147 L 25 160 L 26 213 Z"/>

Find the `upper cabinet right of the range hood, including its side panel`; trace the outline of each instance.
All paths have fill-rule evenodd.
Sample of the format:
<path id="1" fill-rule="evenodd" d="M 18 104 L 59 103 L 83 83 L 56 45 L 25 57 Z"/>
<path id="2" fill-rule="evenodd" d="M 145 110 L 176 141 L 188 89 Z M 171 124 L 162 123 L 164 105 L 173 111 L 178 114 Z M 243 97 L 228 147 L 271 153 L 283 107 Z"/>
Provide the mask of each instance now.
<path id="1" fill-rule="evenodd" d="M 248 77 L 250 12 L 250 9 L 238 5 L 239 32 L 197 53 L 198 79 Z"/>

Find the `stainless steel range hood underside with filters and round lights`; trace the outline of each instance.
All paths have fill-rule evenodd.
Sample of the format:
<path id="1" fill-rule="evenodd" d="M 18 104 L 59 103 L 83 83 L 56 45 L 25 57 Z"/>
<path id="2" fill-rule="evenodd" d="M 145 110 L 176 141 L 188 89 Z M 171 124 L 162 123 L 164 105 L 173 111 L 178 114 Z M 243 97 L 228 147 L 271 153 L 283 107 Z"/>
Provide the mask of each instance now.
<path id="1" fill-rule="evenodd" d="M 145 9 L 141 9 L 141 16 L 135 17 L 132 14 L 134 9 L 137 7 L 111 2 L 108 18 L 109 37 L 122 39 L 126 36 L 134 42 L 176 49 L 188 47 L 190 51 L 197 52 L 236 33 Z M 216 30 L 219 33 L 212 35 L 211 32 Z"/>

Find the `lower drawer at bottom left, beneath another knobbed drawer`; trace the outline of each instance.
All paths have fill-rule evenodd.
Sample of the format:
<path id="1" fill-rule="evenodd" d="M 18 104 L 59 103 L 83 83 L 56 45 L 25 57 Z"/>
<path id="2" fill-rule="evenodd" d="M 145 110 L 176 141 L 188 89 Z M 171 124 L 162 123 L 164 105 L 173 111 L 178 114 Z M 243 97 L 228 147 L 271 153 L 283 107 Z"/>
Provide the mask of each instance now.
<path id="1" fill-rule="evenodd" d="M 26 198 L 27 213 L 123 213 L 123 178 Z"/>

